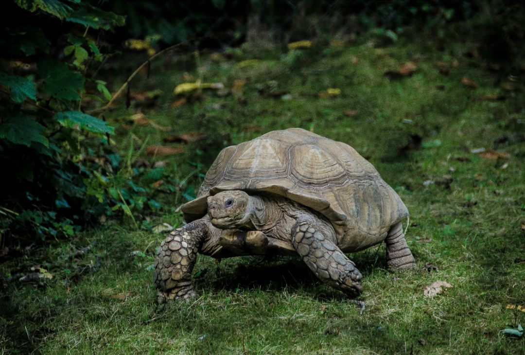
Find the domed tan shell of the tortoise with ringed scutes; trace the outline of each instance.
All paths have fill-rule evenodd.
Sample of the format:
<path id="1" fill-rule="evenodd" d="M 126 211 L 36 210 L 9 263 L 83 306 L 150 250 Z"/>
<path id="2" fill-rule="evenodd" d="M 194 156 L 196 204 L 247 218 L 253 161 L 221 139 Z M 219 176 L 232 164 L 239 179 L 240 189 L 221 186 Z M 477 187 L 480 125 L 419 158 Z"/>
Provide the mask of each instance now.
<path id="1" fill-rule="evenodd" d="M 196 199 L 182 206 L 186 222 L 203 217 L 206 198 L 226 190 L 287 197 L 327 217 L 338 235 L 385 235 L 408 215 L 397 193 L 350 145 L 300 128 L 223 149 Z"/>

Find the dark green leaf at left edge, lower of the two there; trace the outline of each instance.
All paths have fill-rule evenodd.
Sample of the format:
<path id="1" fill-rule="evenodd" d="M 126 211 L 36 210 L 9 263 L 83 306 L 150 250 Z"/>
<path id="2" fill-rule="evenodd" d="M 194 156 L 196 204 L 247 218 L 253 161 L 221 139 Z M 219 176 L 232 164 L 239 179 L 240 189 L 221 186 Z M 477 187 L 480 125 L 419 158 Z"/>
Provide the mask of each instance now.
<path id="1" fill-rule="evenodd" d="M 38 142 L 47 147 L 49 141 L 44 133 L 44 126 L 27 116 L 12 117 L 0 124 L 0 138 L 15 144 L 27 145 L 27 147 L 30 147 L 32 142 Z"/>

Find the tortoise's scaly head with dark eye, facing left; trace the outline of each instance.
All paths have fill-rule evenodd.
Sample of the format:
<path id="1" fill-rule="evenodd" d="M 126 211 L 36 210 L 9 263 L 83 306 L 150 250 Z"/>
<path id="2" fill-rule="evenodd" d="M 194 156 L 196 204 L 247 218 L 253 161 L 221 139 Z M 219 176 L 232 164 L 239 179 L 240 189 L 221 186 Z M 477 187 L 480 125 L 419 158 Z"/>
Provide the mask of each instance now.
<path id="1" fill-rule="evenodd" d="M 250 196 L 240 190 L 223 191 L 209 196 L 208 215 L 218 228 L 248 227 L 251 210 Z"/>

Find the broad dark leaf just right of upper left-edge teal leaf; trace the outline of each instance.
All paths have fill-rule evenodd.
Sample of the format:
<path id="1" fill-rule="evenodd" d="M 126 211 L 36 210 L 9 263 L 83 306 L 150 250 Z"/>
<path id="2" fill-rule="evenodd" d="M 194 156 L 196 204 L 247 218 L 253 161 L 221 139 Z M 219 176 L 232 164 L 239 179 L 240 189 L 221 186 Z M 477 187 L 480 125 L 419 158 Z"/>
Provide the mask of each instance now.
<path id="1" fill-rule="evenodd" d="M 68 69 L 58 60 L 42 60 L 37 65 L 38 74 L 44 79 L 42 89 L 59 100 L 78 101 L 84 88 L 82 74 Z"/>

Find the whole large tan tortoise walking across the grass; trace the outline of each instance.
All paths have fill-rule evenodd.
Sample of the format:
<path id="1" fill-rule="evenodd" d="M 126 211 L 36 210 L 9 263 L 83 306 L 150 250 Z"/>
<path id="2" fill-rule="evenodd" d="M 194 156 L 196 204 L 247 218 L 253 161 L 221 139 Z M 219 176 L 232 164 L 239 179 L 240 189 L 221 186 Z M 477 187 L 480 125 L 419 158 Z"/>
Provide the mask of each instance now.
<path id="1" fill-rule="evenodd" d="M 362 274 L 344 254 L 385 241 L 387 268 L 413 269 L 402 220 L 407 208 L 352 147 L 290 128 L 223 149 L 187 222 L 161 243 L 155 260 L 158 300 L 195 296 L 197 253 L 297 255 L 324 283 L 350 297 Z"/>

